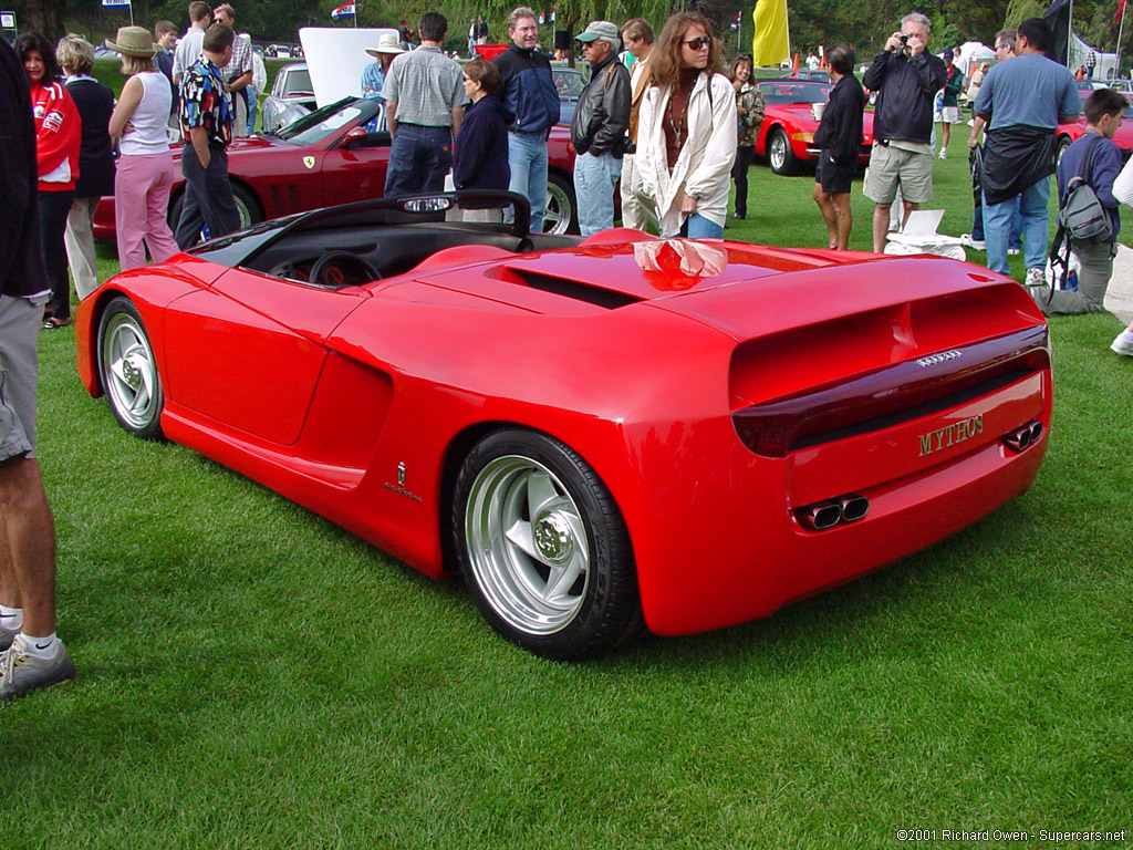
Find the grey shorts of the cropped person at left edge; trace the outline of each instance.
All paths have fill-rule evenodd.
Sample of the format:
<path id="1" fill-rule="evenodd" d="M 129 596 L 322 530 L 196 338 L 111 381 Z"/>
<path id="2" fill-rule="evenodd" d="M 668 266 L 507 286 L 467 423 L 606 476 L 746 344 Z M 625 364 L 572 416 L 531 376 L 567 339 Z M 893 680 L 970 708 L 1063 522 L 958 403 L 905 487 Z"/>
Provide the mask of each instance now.
<path id="1" fill-rule="evenodd" d="M 35 457 L 35 381 L 46 296 L 0 296 L 0 460 Z"/>

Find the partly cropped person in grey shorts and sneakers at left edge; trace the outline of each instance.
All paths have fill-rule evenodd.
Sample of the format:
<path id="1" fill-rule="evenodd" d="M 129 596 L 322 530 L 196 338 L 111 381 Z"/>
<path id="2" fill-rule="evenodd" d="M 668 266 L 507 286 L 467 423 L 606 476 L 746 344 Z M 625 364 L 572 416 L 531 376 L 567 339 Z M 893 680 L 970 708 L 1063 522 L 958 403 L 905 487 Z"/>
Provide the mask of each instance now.
<path id="1" fill-rule="evenodd" d="M 36 341 L 50 295 L 24 65 L 0 39 L 0 699 L 71 679 L 56 637 L 56 532 L 35 460 Z"/>

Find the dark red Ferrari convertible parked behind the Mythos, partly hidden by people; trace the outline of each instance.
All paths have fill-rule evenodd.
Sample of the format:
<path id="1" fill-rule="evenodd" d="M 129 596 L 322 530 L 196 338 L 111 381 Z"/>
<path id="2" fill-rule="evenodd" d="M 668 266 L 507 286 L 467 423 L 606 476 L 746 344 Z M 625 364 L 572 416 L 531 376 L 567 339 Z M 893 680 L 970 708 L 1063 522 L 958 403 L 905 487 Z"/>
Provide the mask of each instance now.
<path id="1" fill-rule="evenodd" d="M 229 146 L 228 173 L 245 227 L 352 201 L 381 197 L 390 161 L 390 134 L 367 133 L 377 113 L 374 101 L 347 97 L 274 134 L 236 138 Z M 170 221 L 181 211 L 181 147 L 173 148 L 177 181 L 169 202 Z M 555 126 L 547 141 L 550 233 L 578 232 L 574 203 L 574 148 L 570 128 Z M 96 239 L 114 238 L 114 198 L 104 197 L 94 216 Z"/>

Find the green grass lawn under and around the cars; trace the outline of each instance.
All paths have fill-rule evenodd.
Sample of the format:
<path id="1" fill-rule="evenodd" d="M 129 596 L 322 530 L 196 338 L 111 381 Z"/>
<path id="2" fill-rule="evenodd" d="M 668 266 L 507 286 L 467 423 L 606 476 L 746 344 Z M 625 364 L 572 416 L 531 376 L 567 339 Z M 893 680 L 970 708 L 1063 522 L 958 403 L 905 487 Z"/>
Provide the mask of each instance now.
<path id="1" fill-rule="evenodd" d="M 957 235 L 962 147 L 936 165 Z M 811 186 L 756 167 L 727 235 L 825 245 Z M 855 248 L 869 212 L 858 184 Z M 1028 494 L 769 619 L 576 665 L 496 638 L 459 583 L 127 436 L 79 386 L 73 333 L 45 333 L 40 453 L 78 678 L 0 708 L 0 845 L 836 849 L 902 828 L 1133 845 L 1119 326 L 1053 321 Z"/>

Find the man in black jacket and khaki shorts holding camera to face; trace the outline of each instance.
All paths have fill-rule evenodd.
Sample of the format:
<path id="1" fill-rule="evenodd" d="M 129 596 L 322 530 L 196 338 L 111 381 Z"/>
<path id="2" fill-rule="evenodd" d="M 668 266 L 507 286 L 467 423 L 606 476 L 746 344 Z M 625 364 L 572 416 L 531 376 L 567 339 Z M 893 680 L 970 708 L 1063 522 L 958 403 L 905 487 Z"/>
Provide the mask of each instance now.
<path id="1" fill-rule="evenodd" d="M 932 101 L 944 87 L 944 60 L 926 51 L 932 25 L 919 11 L 901 19 L 901 29 L 862 77 L 877 92 L 874 151 L 866 176 L 866 196 L 874 207 L 874 250 L 885 250 L 889 207 L 901 187 L 902 224 L 909 213 L 932 199 Z"/>

